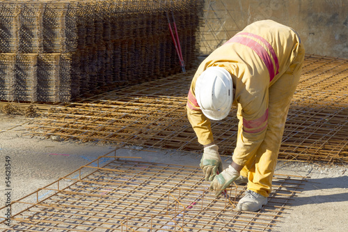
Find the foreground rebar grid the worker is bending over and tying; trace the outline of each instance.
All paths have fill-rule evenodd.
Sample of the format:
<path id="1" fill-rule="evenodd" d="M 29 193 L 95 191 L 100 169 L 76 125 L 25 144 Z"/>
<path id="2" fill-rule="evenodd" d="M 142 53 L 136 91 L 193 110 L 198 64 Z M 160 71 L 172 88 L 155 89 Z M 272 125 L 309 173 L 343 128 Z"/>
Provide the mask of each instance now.
<path id="1" fill-rule="evenodd" d="M 141 162 L 117 150 L 13 201 L 4 231 L 271 231 L 306 181 L 274 175 L 269 204 L 240 212 L 245 186 L 216 199 L 200 168 Z"/>

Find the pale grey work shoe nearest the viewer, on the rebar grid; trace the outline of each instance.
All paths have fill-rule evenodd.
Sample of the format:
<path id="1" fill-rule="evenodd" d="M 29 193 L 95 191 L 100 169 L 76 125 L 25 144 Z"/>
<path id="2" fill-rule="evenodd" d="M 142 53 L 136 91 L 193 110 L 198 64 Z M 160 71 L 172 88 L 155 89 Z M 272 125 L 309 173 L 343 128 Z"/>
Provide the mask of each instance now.
<path id="1" fill-rule="evenodd" d="M 242 211 L 258 211 L 267 204 L 267 197 L 251 190 L 246 190 L 245 196 L 239 200 L 236 209 Z"/>

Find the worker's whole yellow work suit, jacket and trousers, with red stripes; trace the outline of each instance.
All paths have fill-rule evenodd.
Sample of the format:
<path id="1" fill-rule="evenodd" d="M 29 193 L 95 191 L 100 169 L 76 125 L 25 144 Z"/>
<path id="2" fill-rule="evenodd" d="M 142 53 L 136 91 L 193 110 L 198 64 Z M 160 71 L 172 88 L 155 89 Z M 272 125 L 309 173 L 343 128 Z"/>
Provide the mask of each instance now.
<path id="1" fill-rule="evenodd" d="M 199 75 L 211 66 L 230 72 L 235 88 L 237 145 L 232 160 L 244 166 L 248 190 L 269 196 L 292 95 L 305 50 L 293 29 L 271 20 L 254 22 L 217 48 L 193 77 L 187 115 L 202 145 L 214 143 L 210 121 L 195 97 Z M 230 128 L 226 128 L 230 130 Z"/>

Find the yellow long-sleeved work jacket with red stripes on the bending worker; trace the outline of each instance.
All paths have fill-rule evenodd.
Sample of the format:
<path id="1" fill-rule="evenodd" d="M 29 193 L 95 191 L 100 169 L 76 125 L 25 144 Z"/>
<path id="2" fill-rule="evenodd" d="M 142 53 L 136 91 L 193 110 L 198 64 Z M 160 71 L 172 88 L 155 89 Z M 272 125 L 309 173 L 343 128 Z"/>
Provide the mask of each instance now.
<path id="1" fill-rule="evenodd" d="M 268 126 L 268 89 L 290 68 L 299 42 L 290 27 L 262 20 L 246 26 L 207 56 L 193 77 L 187 101 L 187 115 L 200 144 L 210 144 L 214 139 L 210 121 L 195 97 L 199 75 L 211 66 L 230 72 L 235 88 L 233 104 L 239 106 L 237 116 L 242 123 L 242 139 L 237 140 L 235 153 L 251 153 L 264 139 Z"/>

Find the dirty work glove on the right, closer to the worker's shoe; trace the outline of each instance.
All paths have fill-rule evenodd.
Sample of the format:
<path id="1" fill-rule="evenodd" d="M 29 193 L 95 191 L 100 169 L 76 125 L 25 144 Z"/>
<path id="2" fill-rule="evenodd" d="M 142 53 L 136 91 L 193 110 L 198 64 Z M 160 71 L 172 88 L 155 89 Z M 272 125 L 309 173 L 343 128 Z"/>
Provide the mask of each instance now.
<path id="1" fill-rule="evenodd" d="M 212 183 L 210 183 L 210 190 L 215 190 L 215 196 L 220 196 L 221 192 L 230 186 L 239 176 L 239 171 L 234 169 L 231 165 L 223 170 L 219 175 L 215 176 Z"/>

